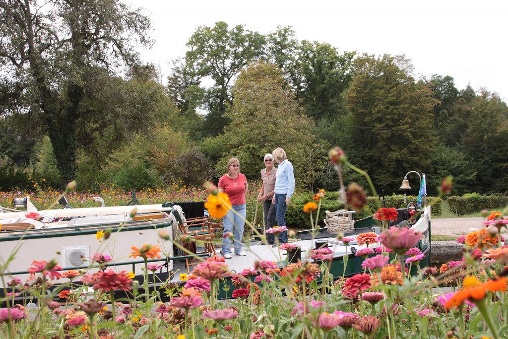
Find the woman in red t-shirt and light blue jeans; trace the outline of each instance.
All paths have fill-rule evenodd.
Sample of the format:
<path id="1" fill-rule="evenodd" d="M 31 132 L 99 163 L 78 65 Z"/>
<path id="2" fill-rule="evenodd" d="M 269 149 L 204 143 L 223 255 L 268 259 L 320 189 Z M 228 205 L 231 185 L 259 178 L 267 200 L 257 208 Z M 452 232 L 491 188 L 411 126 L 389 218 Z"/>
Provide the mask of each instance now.
<path id="1" fill-rule="evenodd" d="M 245 194 L 249 186 L 247 178 L 240 173 L 240 162 L 236 158 L 231 158 L 226 167 L 226 174 L 219 179 L 219 193 L 224 192 L 229 196 L 231 209 L 223 218 L 224 233 L 222 254 L 226 259 L 231 259 L 231 238 L 229 233 L 235 231 L 233 248 L 237 256 L 245 256 L 242 251 L 243 227 L 245 225 L 245 216 L 247 208 L 245 205 Z M 233 212 L 235 210 L 237 213 Z"/>

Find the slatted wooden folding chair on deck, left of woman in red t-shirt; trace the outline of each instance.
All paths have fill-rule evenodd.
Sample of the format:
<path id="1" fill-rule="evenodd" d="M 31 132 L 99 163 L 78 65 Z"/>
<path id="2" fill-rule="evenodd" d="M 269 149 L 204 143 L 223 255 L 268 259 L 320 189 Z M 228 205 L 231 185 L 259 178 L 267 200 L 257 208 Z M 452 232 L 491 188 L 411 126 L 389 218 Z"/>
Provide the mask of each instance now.
<path id="1" fill-rule="evenodd" d="M 190 218 L 184 224 L 178 225 L 180 232 L 186 234 L 189 241 L 184 241 L 182 245 L 188 251 L 196 254 L 209 253 L 215 255 L 213 240 L 215 239 L 215 229 L 212 227 L 210 217 Z M 200 244 L 203 243 L 201 247 Z M 190 273 L 190 266 L 199 264 L 195 259 L 185 259 L 187 273 Z"/>

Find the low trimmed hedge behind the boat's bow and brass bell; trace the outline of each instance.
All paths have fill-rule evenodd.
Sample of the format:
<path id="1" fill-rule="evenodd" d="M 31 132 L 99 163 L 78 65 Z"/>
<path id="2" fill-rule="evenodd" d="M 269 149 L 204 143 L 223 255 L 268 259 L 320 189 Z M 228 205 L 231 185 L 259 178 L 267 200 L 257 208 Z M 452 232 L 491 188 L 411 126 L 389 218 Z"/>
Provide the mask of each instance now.
<path id="1" fill-rule="evenodd" d="M 339 203 L 338 192 L 327 192 L 325 194 L 325 198 L 321 202 L 321 210 L 319 215 L 319 225 L 324 226 L 323 219 L 325 218 L 325 211 L 336 211 L 343 208 L 343 205 Z M 288 206 L 286 211 L 286 224 L 289 227 L 297 227 L 297 228 L 310 228 L 310 216 L 308 213 L 303 212 L 303 205 L 305 205 L 309 201 L 312 200 L 312 193 L 300 193 L 295 194 L 291 198 L 291 204 Z M 386 202 L 387 207 L 395 207 L 402 208 L 406 207 L 407 203 L 410 201 L 417 201 L 416 196 L 407 196 L 407 203 L 404 204 L 404 196 L 403 195 L 392 195 L 386 196 L 385 199 L 388 199 Z M 440 215 L 441 214 L 441 203 L 442 200 L 436 197 L 427 197 L 427 205 L 432 204 L 432 214 Z M 379 201 L 377 197 L 367 197 L 367 206 L 360 213 L 355 215 L 355 219 L 359 220 L 369 215 L 374 214 L 374 212 L 379 208 L 383 207 L 383 203 Z M 315 213 L 313 212 L 312 217 L 315 218 Z M 314 219 L 315 222 L 315 219 Z"/>

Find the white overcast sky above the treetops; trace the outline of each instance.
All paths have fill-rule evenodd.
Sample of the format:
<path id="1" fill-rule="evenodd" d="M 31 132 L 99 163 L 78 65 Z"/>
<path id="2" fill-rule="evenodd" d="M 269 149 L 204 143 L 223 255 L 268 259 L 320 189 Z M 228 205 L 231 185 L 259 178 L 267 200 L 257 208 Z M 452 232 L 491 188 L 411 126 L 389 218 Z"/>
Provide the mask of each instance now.
<path id="1" fill-rule="evenodd" d="M 290 25 L 299 40 L 339 51 L 405 54 L 417 77 L 451 75 L 458 89 L 470 83 L 508 99 L 506 1 L 124 1 L 151 18 L 155 44 L 140 52 L 166 76 L 169 61 L 185 55 L 200 25 L 225 21 L 261 34 Z"/>

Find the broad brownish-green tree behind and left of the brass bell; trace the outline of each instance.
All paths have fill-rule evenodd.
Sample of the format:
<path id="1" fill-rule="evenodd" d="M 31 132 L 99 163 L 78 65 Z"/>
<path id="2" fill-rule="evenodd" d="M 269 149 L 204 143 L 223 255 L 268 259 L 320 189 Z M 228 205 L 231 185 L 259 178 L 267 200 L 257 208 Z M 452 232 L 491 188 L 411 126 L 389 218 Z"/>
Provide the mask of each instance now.
<path id="1" fill-rule="evenodd" d="M 351 112 L 349 160 L 366 170 L 379 189 L 394 192 L 410 170 L 425 171 L 435 137 L 431 91 L 411 76 L 403 56 L 363 55 L 355 60 L 347 92 Z"/>

